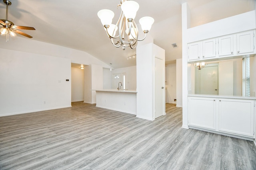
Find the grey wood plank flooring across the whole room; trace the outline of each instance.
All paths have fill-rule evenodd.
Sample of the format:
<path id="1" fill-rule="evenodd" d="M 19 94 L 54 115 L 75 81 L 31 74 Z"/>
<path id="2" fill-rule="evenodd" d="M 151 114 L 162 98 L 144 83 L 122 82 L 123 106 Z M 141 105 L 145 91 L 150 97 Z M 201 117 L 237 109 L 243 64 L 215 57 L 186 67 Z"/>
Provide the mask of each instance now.
<path id="1" fill-rule="evenodd" d="M 252 141 L 181 126 L 174 104 L 154 121 L 82 102 L 0 117 L 0 169 L 256 170 Z"/>

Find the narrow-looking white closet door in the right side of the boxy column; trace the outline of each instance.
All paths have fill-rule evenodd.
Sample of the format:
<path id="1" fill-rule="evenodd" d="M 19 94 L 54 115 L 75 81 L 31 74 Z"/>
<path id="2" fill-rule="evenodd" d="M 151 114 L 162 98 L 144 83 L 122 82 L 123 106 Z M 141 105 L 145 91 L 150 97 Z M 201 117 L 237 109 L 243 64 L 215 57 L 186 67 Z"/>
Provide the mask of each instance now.
<path id="1" fill-rule="evenodd" d="M 164 64 L 155 57 L 155 118 L 164 115 Z"/>

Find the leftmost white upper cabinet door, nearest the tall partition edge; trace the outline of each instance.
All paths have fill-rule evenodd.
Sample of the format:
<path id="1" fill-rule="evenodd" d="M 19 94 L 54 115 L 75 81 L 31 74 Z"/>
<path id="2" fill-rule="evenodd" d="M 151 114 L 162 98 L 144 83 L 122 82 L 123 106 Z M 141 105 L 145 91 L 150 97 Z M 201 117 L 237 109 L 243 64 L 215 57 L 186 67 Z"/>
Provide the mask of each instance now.
<path id="1" fill-rule="evenodd" d="M 188 61 L 198 60 L 201 55 L 201 42 L 189 43 L 188 44 Z"/>

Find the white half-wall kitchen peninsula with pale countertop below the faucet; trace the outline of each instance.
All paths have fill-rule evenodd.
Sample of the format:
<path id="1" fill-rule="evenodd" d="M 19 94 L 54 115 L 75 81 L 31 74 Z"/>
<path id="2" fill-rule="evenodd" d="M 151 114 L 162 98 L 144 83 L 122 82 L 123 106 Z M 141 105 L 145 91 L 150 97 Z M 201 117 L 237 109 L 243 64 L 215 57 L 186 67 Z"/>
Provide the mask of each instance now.
<path id="1" fill-rule="evenodd" d="M 137 91 L 100 89 L 96 91 L 96 107 L 137 114 Z"/>

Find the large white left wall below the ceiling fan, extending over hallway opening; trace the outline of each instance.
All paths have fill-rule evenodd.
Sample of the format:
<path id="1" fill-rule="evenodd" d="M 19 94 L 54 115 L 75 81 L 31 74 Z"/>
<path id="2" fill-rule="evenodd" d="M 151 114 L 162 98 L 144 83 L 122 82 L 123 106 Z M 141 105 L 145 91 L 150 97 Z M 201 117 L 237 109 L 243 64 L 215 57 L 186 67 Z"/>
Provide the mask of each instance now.
<path id="1" fill-rule="evenodd" d="M 0 116 L 71 106 L 71 63 L 110 68 L 84 51 L 22 37 L 0 41 L 0 54 Z"/>

